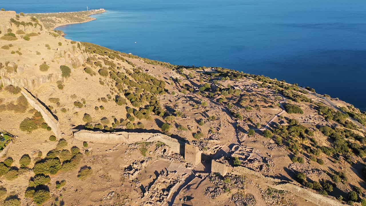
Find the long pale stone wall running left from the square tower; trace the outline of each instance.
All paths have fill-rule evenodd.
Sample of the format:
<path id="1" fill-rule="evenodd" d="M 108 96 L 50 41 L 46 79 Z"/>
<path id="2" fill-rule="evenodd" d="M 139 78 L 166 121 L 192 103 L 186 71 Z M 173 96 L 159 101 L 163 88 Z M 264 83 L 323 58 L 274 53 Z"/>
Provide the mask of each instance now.
<path id="1" fill-rule="evenodd" d="M 81 141 L 106 144 L 161 141 L 171 147 L 173 152 L 180 152 L 180 143 L 178 140 L 160 133 L 94 132 L 90 130 L 79 130 L 74 132 L 74 137 Z"/>

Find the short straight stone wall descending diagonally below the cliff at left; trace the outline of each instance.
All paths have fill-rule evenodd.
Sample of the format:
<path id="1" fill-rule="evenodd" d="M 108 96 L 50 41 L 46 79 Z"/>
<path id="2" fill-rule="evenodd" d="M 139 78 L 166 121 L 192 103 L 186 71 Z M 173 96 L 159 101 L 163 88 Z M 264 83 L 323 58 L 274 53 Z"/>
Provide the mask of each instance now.
<path id="1" fill-rule="evenodd" d="M 37 111 L 42 114 L 43 119 L 51 127 L 52 132 L 55 133 L 57 138 L 60 138 L 60 125 L 57 119 L 53 117 L 51 112 L 49 112 L 39 101 L 38 99 L 34 98 L 29 91 L 26 89 L 22 89 L 22 94 L 27 99 L 28 103 L 34 107 Z"/>

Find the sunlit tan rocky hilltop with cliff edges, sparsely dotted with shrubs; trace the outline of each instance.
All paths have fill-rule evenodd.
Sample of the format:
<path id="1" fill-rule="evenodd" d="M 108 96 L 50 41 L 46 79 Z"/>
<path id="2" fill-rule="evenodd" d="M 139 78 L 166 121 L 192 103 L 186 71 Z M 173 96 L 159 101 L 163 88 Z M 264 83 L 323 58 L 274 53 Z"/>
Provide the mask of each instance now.
<path id="1" fill-rule="evenodd" d="M 0 77 L 4 87 L 33 89 L 47 82 L 64 81 L 61 65 L 75 69 L 87 59 L 80 43 L 45 30 L 38 19 L 14 11 L 0 11 L 0 37 L 9 32 L 15 39 L 0 38 Z M 46 71 L 40 70 L 43 64 L 48 66 Z"/>

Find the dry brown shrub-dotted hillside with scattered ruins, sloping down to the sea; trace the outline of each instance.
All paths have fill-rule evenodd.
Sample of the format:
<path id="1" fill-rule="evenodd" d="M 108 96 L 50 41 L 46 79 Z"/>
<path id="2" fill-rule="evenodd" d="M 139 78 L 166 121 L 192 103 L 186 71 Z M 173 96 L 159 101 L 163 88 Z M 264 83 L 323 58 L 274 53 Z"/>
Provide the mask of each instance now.
<path id="1" fill-rule="evenodd" d="M 48 27 L 0 11 L 1 204 L 366 205 L 366 115 L 352 105 L 264 76 L 67 40 Z M 161 142 L 83 142 L 73 135 L 81 129 L 165 133 L 197 148 L 199 163 Z"/>

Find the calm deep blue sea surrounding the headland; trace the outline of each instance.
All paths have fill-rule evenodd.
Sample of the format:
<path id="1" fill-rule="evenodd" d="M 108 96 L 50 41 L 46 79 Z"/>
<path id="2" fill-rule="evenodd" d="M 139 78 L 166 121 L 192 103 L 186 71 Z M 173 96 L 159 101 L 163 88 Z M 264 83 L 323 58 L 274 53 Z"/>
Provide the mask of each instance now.
<path id="1" fill-rule="evenodd" d="M 177 65 L 313 87 L 366 109 L 365 0 L 2 0 L 17 12 L 105 8 L 66 38 Z"/>

